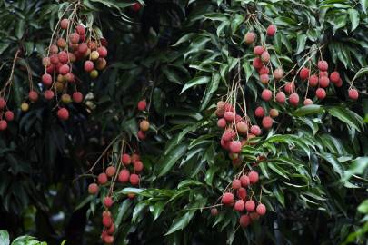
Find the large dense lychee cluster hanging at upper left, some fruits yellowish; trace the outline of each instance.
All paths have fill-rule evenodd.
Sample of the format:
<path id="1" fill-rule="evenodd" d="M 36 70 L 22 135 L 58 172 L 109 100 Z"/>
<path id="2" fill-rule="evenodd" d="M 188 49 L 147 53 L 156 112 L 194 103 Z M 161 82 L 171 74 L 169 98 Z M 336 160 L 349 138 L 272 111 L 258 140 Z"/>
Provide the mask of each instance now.
<path id="1" fill-rule="evenodd" d="M 75 18 L 62 19 L 55 31 L 55 39 L 48 48 L 48 55 L 43 59 L 45 73 L 41 79 L 45 87 L 45 99 L 57 99 L 55 94 L 59 94 L 61 102 L 65 105 L 72 102 L 81 103 L 84 96 L 77 91 L 73 66 L 76 62 L 83 62 L 85 72 L 89 73 L 91 78 L 96 78 L 98 71 L 106 67 L 106 42 L 103 38 L 98 38 L 92 28 L 75 23 Z M 37 98 L 35 91 L 29 93 L 32 102 Z M 65 107 L 59 108 L 57 116 L 60 120 L 67 120 L 69 111 Z"/>

